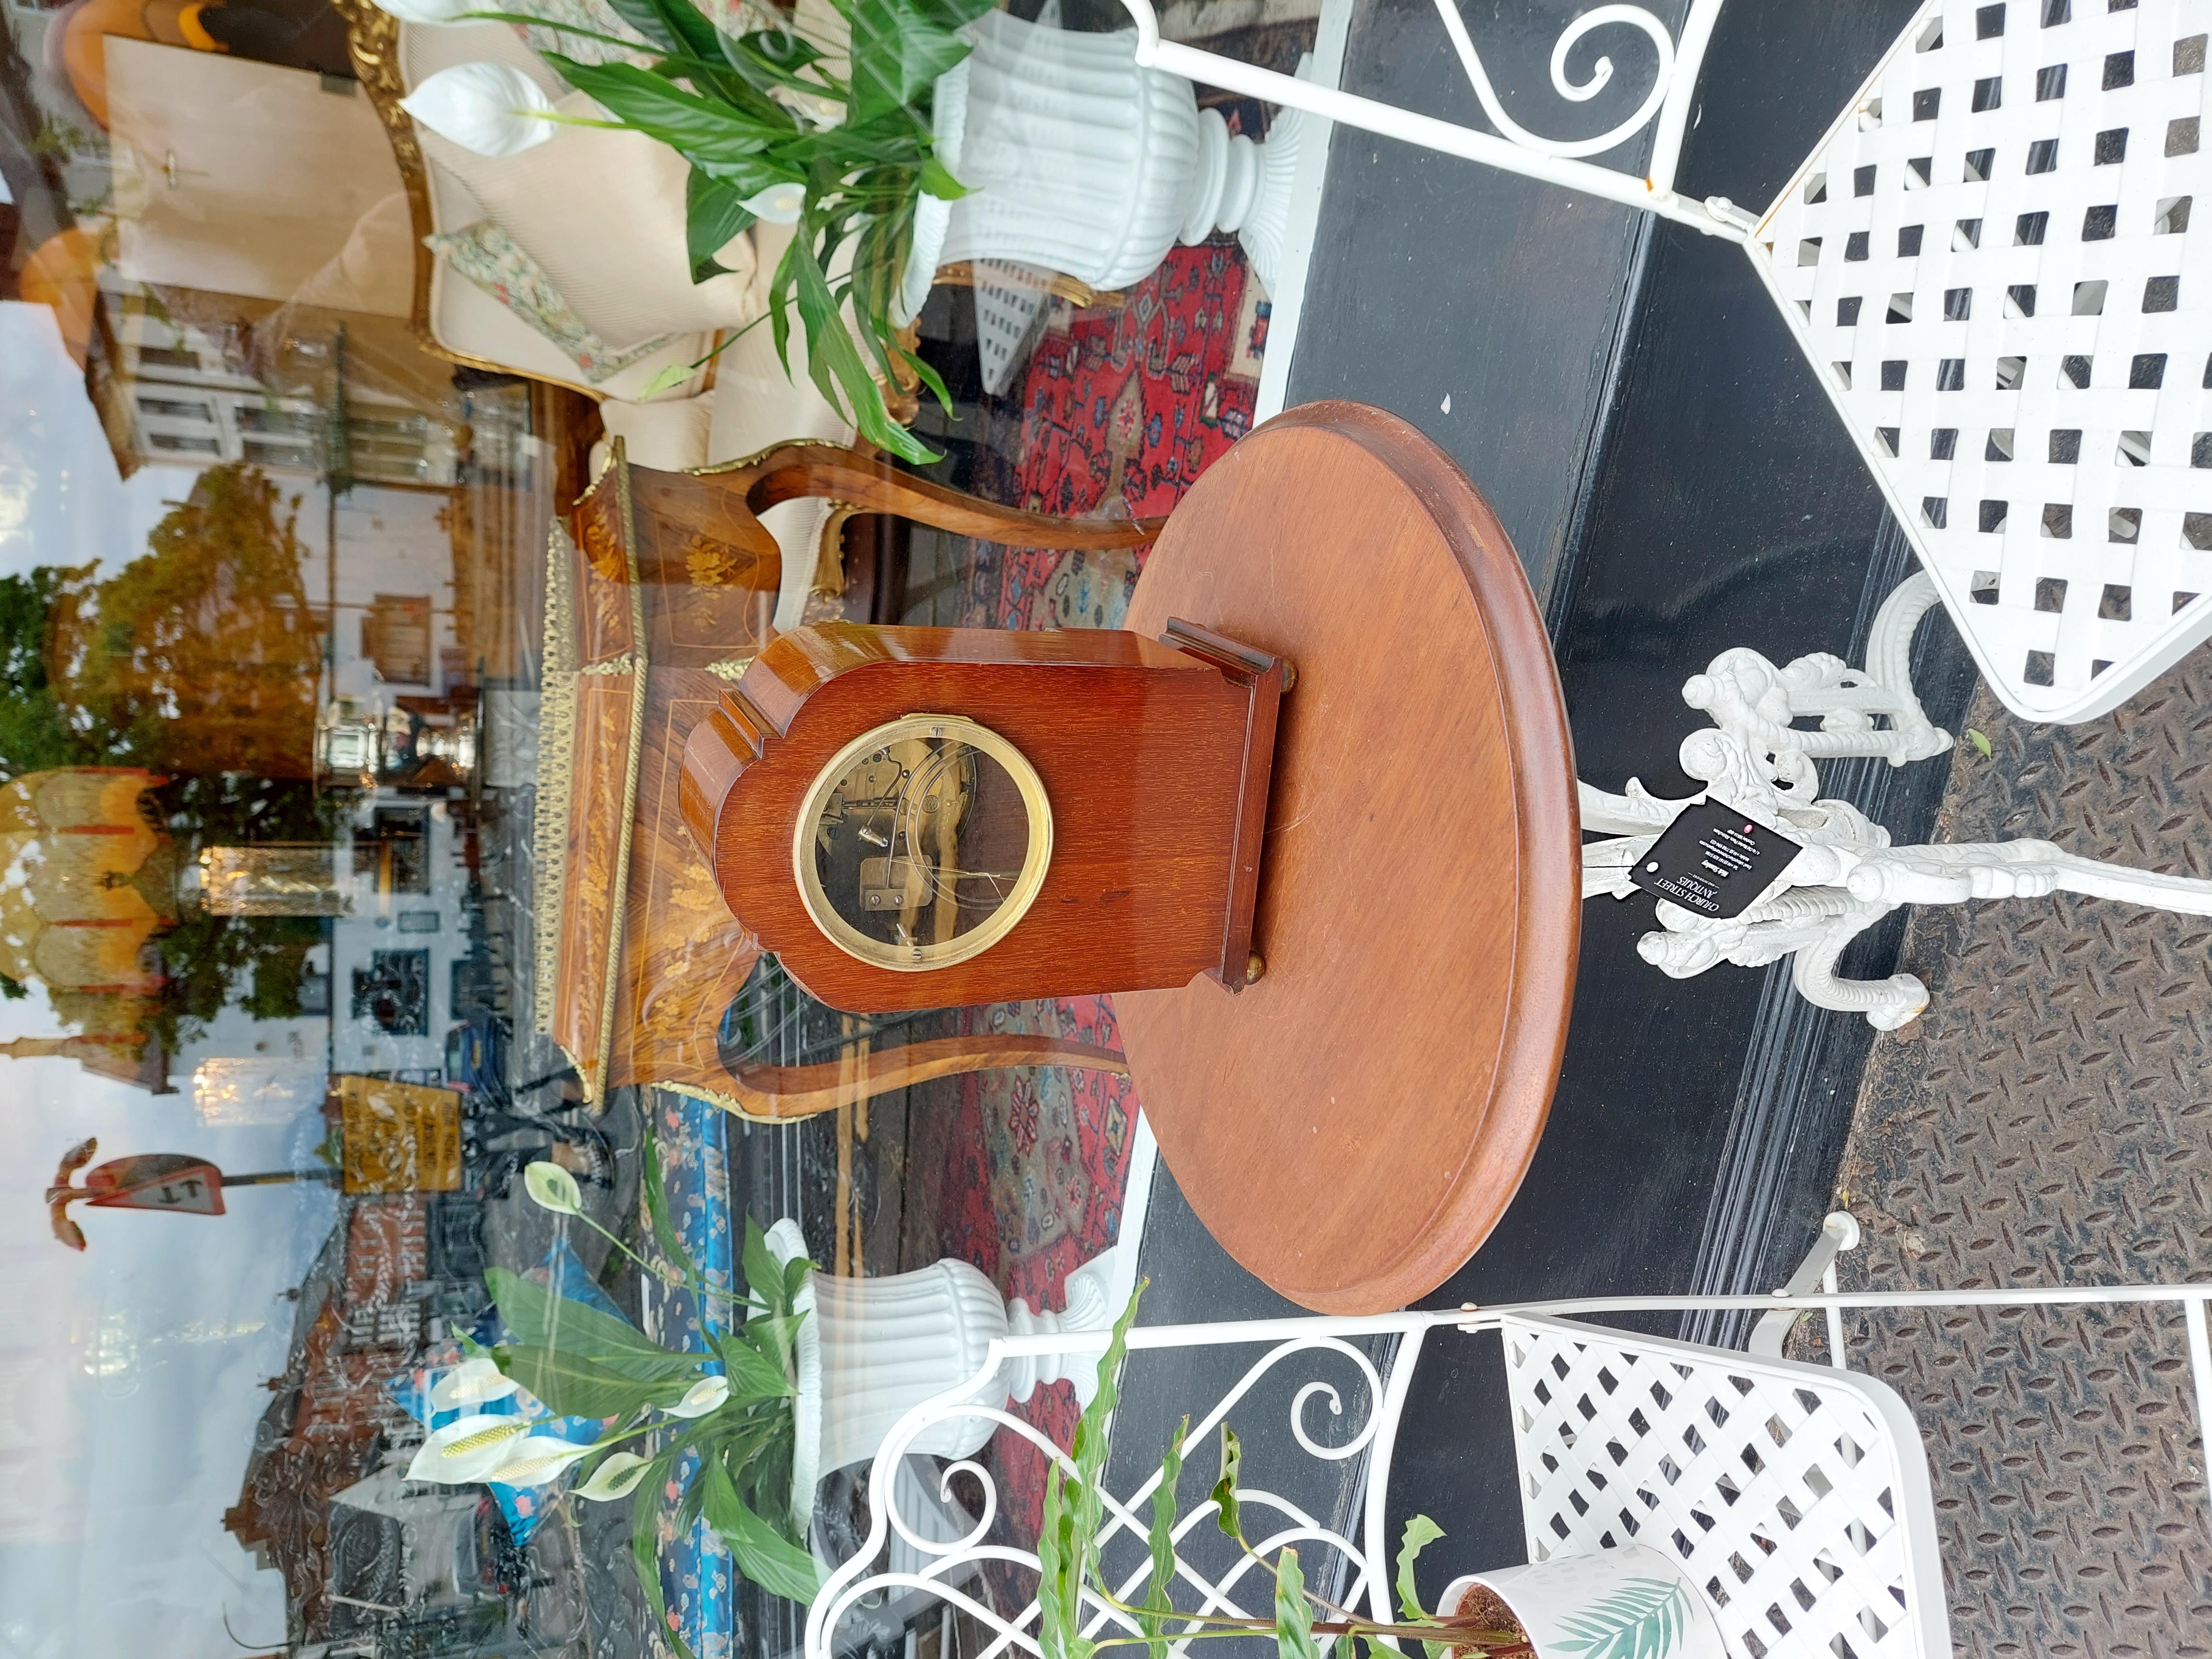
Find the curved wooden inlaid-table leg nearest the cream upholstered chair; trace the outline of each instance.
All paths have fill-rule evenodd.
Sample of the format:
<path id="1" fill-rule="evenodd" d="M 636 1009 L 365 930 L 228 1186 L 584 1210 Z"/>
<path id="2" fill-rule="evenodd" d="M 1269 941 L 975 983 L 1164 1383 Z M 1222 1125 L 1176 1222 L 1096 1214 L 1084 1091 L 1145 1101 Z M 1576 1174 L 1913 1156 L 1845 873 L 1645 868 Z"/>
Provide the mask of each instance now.
<path id="1" fill-rule="evenodd" d="M 836 445 L 785 445 L 728 471 L 708 471 L 723 489 L 743 491 L 752 513 L 779 502 L 827 495 L 863 513 L 911 518 L 958 535 L 1015 546 L 1115 549 L 1159 538 L 1164 518 L 1053 518 L 1000 507 L 980 495 L 931 484 L 880 456 Z"/>

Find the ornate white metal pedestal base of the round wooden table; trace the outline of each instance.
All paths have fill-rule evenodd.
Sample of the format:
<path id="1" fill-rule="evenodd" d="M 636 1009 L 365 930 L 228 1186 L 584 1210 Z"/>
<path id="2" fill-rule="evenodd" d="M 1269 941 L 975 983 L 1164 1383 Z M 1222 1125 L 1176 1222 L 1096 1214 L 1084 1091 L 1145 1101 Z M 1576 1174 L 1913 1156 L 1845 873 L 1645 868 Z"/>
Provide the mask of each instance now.
<path id="1" fill-rule="evenodd" d="M 1792 956 L 1790 978 L 1807 1002 L 1863 1013 L 1871 1026 L 1896 1031 L 1927 1009 L 1927 987 L 1911 973 L 1845 980 L 1836 960 L 1898 905 L 2070 891 L 2212 916 L 2212 880 L 2077 858 L 2048 841 L 1891 847 L 1889 832 L 1849 801 L 1818 799 L 1816 759 L 1871 754 L 1905 765 L 1951 748 L 1949 732 L 1920 710 L 1907 664 L 1913 624 L 1933 593 L 1924 571 L 1898 584 L 1874 622 L 1867 668 L 1847 668 L 1829 655 L 1798 657 L 1785 668 L 1756 650 L 1714 657 L 1683 686 L 1683 701 L 1717 721 L 1717 730 L 1681 741 L 1681 770 L 1705 785 L 1699 794 L 1661 801 L 1635 779 L 1626 794 L 1582 785 L 1582 827 L 1608 836 L 1582 849 L 1584 898 L 1635 894 L 1637 863 L 1674 814 L 1705 794 L 1803 845 L 1739 916 L 1717 920 L 1659 900 L 1659 931 L 1637 940 L 1646 962 L 1681 980 L 1721 962 L 1763 967 Z M 1796 730 L 1798 717 L 1818 717 L 1820 730 Z M 1878 728 L 1876 717 L 1889 726 Z"/>

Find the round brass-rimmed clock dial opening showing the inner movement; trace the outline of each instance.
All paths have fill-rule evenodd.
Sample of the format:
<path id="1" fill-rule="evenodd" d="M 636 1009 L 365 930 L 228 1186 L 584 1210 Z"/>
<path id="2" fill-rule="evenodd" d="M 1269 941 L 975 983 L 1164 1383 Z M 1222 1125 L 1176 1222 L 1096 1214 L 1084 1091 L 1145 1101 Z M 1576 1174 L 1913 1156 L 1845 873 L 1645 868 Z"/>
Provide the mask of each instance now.
<path id="1" fill-rule="evenodd" d="M 922 971 L 991 949 L 1035 900 L 1053 814 L 998 732 L 907 714 L 814 779 L 792 845 L 807 914 L 863 962 Z"/>

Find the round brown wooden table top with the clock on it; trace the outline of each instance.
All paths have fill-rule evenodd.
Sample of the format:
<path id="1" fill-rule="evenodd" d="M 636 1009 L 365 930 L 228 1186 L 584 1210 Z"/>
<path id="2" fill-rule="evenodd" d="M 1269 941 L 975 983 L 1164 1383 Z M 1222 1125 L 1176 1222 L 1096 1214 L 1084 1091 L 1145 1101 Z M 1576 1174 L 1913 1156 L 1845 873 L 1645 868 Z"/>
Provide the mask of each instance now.
<path id="1" fill-rule="evenodd" d="M 1327 1314 L 1402 1307 L 1535 1155 L 1575 991 L 1575 759 L 1520 557 L 1420 431 L 1292 409 L 1223 456 L 1128 628 L 1287 657 L 1259 984 L 1115 998 L 1161 1157 L 1221 1245 Z M 1172 763 L 1172 761 L 1166 761 Z"/>

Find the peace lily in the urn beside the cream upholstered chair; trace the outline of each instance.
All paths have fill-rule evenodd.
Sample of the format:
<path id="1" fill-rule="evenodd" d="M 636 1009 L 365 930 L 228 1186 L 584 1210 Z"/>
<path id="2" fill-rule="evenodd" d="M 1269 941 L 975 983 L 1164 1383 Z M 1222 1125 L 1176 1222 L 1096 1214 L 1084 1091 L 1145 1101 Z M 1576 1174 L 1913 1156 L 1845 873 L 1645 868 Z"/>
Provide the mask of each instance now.
<path id="1" fill-rule="evenodd" d="M 936 460 L 891 418 L 883 387 L 920 383 L 951 407 L 942 378 L 900 338 L 909 319 L 898 316 L 898 290 L 920 199 L 967 195 L 936 157 L 931 88 L 967 58 L 960 29 L 989 11 L 991 0 L 830 0 L 849 27 L 849 44 L 838 42 L 849 64 L 843 75 L 832 71 L 823 44 L 785 22 L 730 31 L 690 0 L 608 0 L 637 31 L 635 40 L 524 11 L 471 9 L 471 0 L 380 4 L 414 24 L 518 22 L 648 53 L 644 66 L 544 53 L 606 119 L 562 115 L 529 75 L 498 64 L 445 69 L 403 108 L 453 144 L 493 157 L 544 144 L 560 122 L 622 126 L 659 139 L 690 161 L 692 281 L 714 276 L 721 270 L 714 252 L 754 219 L 796 223 L 765 316 L 785 372 L 796 310 L 807 372 L 830 405 L 880 449 Z M 655 387 L 686 372 L 666 372 Z"/>

